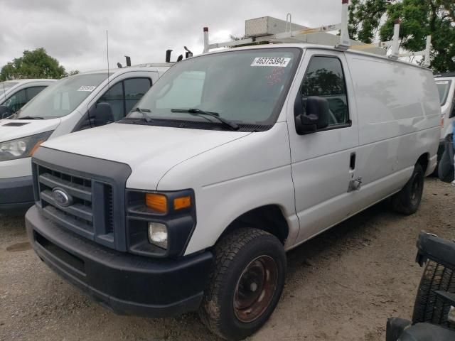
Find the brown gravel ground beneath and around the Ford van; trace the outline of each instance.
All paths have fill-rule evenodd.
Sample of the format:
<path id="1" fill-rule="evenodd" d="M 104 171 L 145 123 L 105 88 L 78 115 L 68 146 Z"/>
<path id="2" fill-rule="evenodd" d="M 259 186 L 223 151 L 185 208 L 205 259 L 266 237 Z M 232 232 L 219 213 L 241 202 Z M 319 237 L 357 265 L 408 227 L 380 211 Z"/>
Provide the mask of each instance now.
<path id="1" fill-rule="evenodd" d="M 454 238 L 454 202 L 428 178 L 417 214 L 380 203 L 290 251 L 282 299 L 250 340 L 385 340 L 387 318 L 412 313 L 417 235 Z M 217 340 L 196 314 L 151 320 L 93 303 L 33 253 L 23 217 L 0 217 L 0 266 L 0 340 Z"/>

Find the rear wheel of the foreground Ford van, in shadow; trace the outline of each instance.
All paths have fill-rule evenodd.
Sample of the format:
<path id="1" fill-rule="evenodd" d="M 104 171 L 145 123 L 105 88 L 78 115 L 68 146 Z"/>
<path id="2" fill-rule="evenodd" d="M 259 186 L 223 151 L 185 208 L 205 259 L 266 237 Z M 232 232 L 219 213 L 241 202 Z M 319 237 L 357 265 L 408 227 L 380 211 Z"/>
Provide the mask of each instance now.
<path id="1" fill-rule="evenodd" d="M 417 212 L 424 190 L 424 171 L 419 163 L 414 166 L 414 172 L 405 187 L 392 196 L 392 209 L 403 215 Z"/>

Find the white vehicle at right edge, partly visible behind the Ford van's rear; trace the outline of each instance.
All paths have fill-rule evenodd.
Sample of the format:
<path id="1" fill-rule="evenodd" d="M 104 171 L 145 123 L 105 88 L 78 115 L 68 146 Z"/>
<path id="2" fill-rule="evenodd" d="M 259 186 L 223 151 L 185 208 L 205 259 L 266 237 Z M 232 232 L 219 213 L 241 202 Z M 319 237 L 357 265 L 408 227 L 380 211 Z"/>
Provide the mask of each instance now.
<path id="1" fill-rule="evenodd" d="M 444 153 L 444 139 L 452 133 L 455 121 L 455 72 L 434 75 L 441 103 L 441 137 L 439 139 L 438 161 Z"/>

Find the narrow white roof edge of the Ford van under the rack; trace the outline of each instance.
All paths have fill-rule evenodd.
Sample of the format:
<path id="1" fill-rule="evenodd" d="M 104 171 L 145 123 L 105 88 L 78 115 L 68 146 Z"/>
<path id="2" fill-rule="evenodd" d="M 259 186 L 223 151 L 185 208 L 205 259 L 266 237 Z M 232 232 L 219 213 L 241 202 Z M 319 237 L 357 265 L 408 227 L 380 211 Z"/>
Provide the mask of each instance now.
<path id="1" fill-rule="evenodd" d="M 430 71 L 427 67 L 423 67 L 417 64 L 413 63 L 407 63 L 403 60 L 399 59 L 392 59 L 388 58 L 386 55 L 378 55 L 375 53 L 368 53 L 366 51 L 361 51 L 361 50 L 341 50 L 338 48 L 335 48 L 334 46 L 329 46 L 329 45 L 316 45 L 316 44 L 311 44 L 311 43 L 272 43 L 272 44 L 259 44 L 259 45 L 247 45 L 247 46 L 242 46 L 239 48 L 229 48 L 229 49 L 223 49 L 223 50 L 216 50 L 216 51 L 209 51 L 207 53 L 204 53 L 203 55 L 208 55 L 212 53 L 223 53 L 226 51 L 232 51 L 232 50 L 251 50 L 251 49 L 260 49 L 260 48 L 301 48 L 301 49 L 317 49 L 317 50 L 332 50 L 332 51 L 338 51 L 338 52 L 344 52 L 344 53 L 351 53 L 355 55 L 364 55 L 365 57 L 368 58 L 375 58 L 375 59 L 380 59 L 380 60 L 388 60 L 393 63 L 401 63 L 403 65 L 409 65 L 413 67 L 419 67 L 420 69 L 423 70 L 428 70 Z M 198 56 L 194 56 L 193 58 L 197 58 Z"/>

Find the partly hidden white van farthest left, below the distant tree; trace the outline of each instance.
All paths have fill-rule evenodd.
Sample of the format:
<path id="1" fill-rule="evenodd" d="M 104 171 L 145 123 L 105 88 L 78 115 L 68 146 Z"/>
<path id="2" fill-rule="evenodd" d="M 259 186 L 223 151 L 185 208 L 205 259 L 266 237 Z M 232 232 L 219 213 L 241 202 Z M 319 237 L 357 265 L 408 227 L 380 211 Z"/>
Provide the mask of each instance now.
<path id="1" fill-rule="evenodd" d="M 0 82 L 0 119 L 11 116 L 55 80 L 7 80 Z"/>

